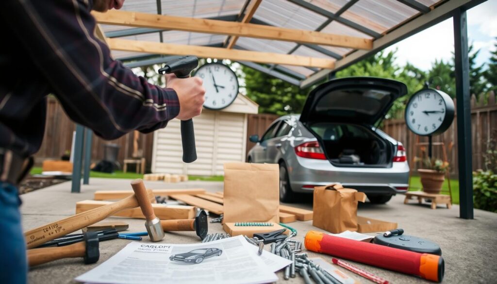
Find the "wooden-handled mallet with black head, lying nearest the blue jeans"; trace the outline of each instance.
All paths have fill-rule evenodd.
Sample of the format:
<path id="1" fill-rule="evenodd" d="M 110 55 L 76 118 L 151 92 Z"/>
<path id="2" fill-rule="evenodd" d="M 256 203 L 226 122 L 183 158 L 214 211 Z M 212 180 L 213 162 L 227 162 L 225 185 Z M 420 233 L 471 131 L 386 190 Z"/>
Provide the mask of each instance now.
<path id="1" fill-rule="evenodd" d="M 69 246 L 31 249 L 27 251 L 27 257 L 30 267 L 58 259 L 75 257 L 82 257 L 85 264 L 95 263 L 100 258 L 98 234 L 96 232 L 84 233 L 83 242 Z"/>

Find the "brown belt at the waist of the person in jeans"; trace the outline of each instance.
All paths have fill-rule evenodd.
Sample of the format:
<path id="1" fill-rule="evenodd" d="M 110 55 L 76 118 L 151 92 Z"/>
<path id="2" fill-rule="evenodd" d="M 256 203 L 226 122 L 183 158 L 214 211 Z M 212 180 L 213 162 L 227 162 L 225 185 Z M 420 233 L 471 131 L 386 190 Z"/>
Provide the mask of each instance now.
<path id="1" fill-rule="evenodd" d="M 0 181 L 17 186 L 33 166 L 33 157 L 23 158 L 11 150 L 0 148 Z"/>

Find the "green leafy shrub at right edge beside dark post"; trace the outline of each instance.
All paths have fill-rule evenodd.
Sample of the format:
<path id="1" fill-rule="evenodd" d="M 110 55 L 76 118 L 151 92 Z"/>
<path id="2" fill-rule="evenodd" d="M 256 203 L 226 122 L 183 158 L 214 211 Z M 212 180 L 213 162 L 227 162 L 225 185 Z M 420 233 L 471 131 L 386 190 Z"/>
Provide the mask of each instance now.
<path id="1" fill-rule="evenodd" d="M 497 174 L 473 172 L 473 202 L 475 208 L 497 212 Z"/>

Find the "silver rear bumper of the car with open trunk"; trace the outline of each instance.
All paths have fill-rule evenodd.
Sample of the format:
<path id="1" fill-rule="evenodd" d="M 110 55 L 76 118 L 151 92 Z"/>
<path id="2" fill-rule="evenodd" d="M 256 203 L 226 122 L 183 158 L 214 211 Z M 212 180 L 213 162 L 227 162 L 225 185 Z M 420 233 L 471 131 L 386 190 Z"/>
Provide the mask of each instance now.
<path id="1" fill-rule="evenodd" d="M 393 163 L 390 168 L 345 168 L 333 167 L 327 160 L 297 160 L 288 169 L 290 185 L 296 192 L 312 192 L 315 186 L 332 183 L 375 195 L 395 195 L 408 189 L 407 163 Z"/>

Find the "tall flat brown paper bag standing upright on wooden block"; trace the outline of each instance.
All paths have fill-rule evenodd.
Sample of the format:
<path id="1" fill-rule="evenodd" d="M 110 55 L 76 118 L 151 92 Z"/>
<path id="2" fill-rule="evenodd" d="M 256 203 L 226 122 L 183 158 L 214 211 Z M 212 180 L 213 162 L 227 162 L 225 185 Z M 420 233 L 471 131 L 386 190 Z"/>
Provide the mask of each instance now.
<path id="1" fill-rule="evenodd" d="M 279 222 L 278 164 L 224 164 L 223 222 Z"/>

